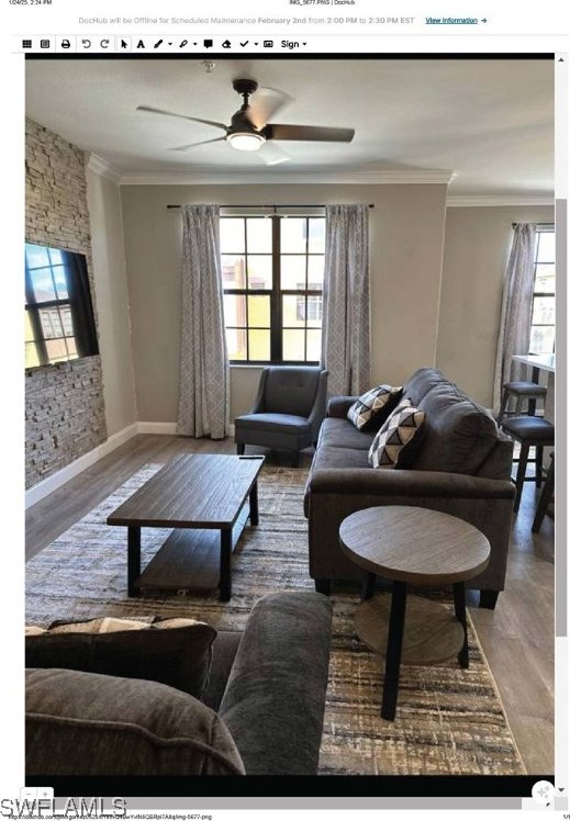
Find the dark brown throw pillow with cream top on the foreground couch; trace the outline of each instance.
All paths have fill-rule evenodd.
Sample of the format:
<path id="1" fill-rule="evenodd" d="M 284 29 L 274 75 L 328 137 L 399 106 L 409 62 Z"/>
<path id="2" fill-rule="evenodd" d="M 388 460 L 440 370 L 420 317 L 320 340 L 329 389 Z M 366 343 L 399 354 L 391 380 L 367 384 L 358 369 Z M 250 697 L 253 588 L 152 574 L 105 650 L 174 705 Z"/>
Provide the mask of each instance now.
<path id="1" fill-rule="evenodd" d="M 193 619 L 55 621 L 40 634 L 26 628 L 25 664 L 146 678 L 201 698 L 215 637 Z"/>

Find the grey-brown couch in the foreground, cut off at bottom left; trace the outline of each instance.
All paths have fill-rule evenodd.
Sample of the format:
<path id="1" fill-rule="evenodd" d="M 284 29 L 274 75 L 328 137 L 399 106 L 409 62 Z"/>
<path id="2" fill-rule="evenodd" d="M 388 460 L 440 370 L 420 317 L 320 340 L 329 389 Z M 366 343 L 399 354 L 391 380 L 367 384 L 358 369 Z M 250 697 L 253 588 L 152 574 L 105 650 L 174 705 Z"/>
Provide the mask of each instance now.
<path id="1" fill-rule="evenodd" d="M 243 633 L 219 632 L 201 701 L 150 681 L 27 670 L 26 776 L 315 775 L 331 618 L 316 593 L 260 599 Z"/>

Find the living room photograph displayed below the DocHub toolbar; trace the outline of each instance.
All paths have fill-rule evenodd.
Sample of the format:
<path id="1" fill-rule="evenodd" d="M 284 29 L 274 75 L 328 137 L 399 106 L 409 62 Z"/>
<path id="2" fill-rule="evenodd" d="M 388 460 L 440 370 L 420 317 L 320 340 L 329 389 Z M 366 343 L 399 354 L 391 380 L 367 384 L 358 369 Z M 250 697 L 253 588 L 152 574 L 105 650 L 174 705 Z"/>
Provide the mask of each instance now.
<path id="1" fill-rule="evenodd" d="M 552 778 L 554 72 L 26 57 L 30 784 Z"/>

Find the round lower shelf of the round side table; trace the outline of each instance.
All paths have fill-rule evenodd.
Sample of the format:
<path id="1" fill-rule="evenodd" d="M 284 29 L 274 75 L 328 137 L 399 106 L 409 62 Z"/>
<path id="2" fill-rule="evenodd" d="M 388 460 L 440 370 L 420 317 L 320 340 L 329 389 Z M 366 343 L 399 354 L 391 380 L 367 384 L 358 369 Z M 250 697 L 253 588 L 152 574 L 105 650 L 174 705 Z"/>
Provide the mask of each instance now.
<path id="1" fill-rule="evenodd" d="M 355 615 L 355 630 L 370 650 L 385 656 L 390 623 L 390 594 L 362 601 Z M 463 646 L 463 627 L 438 601 L 407 596 L 402 664 L 437 664 L 457 656 Z"/>

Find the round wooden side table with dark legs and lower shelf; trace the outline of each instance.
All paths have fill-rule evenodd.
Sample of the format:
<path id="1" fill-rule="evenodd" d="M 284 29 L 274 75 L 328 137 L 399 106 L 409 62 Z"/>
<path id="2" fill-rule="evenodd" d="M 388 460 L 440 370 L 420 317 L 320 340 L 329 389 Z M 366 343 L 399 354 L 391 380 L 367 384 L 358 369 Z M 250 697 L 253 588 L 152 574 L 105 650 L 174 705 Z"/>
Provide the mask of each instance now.
<path id="1" fill-rule="evenodd" d="M 361 641 L 385 656 L 381 716 L 393 721 L 400 664 L 434 664 L 456 653 L 469 666 L 465 582 L 489 564 L 489 541 L 476 527 L 438 510 L 369 507 L 340 525 L 340 548 L 367 571 L 355 617 Z M 376 576 L 392 580 L 392 599 L 372 595 Z M 454 586 L 455 618 L 442 604 L 407 597 L 407 585 Z"/>

